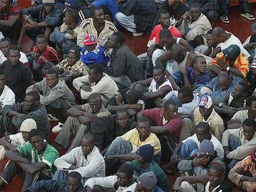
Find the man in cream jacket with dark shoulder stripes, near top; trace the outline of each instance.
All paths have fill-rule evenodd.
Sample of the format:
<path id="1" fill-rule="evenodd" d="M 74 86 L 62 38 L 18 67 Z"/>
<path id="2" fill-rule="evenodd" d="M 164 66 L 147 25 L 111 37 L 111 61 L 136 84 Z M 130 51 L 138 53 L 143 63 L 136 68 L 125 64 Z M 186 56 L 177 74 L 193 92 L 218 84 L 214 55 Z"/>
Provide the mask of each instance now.
<path id="1" fill-rule="evenodd" d="M 108 38 L 117 31 L 113 23 L 105 20 L 105 14 L 101 7 L 93 7 L 90 10 L 92 18 L 83 19 L 80 27 L 83 30 L 77 34 L 77 45 L 81 48 L 85 35 L 92 34 L 97 37 L 97 43 L 101 46 L 105 46 Z"/>

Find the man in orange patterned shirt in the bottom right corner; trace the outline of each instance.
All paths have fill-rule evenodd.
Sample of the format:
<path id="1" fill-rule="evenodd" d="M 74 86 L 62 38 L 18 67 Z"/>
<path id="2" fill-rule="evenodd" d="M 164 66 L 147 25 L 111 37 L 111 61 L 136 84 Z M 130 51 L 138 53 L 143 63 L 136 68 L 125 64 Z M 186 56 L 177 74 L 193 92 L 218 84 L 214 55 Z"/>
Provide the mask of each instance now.
<path id="1" fill-rule="evenodd" d="M 239 161 L 228 174 L 229 180 L 237 186 L 242 186 L 245 191 L 255 191 L 256 148 L 250 150 L 249 156 Z"/>

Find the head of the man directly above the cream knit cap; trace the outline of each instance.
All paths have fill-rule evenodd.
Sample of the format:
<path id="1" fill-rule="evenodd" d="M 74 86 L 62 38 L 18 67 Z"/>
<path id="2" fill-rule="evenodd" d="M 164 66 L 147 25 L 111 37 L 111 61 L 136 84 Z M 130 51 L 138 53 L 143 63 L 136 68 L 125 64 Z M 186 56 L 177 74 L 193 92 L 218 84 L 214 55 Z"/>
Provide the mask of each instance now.
<path id="1" fill-rule="evenodd" d="M 30 91 L 25 95 L 24 110 L 25 112 L 31 112 L 40 101 L 40 95 L 36 91 Z"/>

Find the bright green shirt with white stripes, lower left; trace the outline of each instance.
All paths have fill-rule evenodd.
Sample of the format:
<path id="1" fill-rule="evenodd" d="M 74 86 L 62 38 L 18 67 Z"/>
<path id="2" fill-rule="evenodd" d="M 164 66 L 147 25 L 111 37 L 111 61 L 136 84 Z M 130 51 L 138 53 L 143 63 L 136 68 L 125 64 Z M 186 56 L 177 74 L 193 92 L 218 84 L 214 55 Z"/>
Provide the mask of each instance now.
<path id="1" fill-rule="evenodd" d="M 27 143 L 19 148 L 20 154 L 26 159 L 30 159 L 32 162 L 44 162 L 48 166 L 41 170 L 48 177 L 53 177 L 56 171 L 56 167 L 53 165 L 55 159 L 59 157 L 59 152 L 53 146 L 47 144 L 45 151 L 42 154 L 38 154 L 38 151 L 33 148 L 32 144 Z"/>

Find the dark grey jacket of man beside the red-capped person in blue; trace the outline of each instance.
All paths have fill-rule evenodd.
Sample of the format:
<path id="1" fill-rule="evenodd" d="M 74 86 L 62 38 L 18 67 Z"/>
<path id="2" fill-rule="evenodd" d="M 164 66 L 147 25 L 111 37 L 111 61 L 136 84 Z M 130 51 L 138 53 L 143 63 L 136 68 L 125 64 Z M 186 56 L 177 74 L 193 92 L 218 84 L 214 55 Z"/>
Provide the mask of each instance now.
<path id="1" fill-rule="evenodd" d="M 106 73 L 112 77 L 127 75 L 132 83 L 145 79 L 144 70 L 138 57 L 124 43 L 113 49 Z"/>

